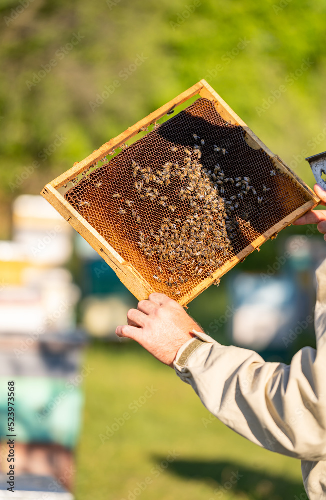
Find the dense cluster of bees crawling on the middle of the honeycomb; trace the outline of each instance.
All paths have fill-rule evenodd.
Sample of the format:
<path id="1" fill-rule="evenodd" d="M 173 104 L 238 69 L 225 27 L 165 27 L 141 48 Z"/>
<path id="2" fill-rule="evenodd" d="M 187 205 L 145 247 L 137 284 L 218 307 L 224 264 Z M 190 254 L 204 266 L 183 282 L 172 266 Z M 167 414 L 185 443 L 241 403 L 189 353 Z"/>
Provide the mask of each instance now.
<path id="1" fill-rule="evenodd" d="M 135 159 L 131 161 L 134 189 L 140 199 L 156 202 L 171 212 L 169 217 L 162 217 L 155 229 L 150 228 L 146 234 L 139 230 L 137 244 L 148 260 L 154 259 L 157 263 L 153 279 L 172 288 L 172 295 L 179 295 L 180 284 L 188 281 L 185 277 L 186 266 L 190 266 L 193 275 L 213 277 L 214 271 L 230 255 L 232 240 L 238 235 L 239 222 L 235 214 L 240 200 L 250 191 L 259 205 L 263 200 L 263 196 L 257 196 L 249 177 L 227 177 L 218 161 L 212 170 L 204 168 L 201 158 L 205 139 L 196 133 L 192 137 L 195 142 L 193 148 L 181 148 L 184 155 L 181 164 L 177 160 L 168 161 L 158 168 L 141 166 Z M 179 145 L 170 147 L 172 153 L 177 153 L 179 149 Z M 225 148 L 216 145 L 213 152 L 227 154 Z M 159 191 L 161 186 L 169 186 L 171 181 L 174 189 L 177 188 L 179 200 L 189 206 L 185 218 L 179 218 L 180 207 L 177 208 L 168 196 Z M 237 191 L 229 197 L 225 195 L 228 184 Z M 269 189 L 263 185 L 262 192 Z M 121 198 L 121 195 L 115 191 L 112 197 Z M 129 208 L 132 217 L 140 224 L 141 217 L 133 208 L 133 203 L 133 200 L 125 198 L 126 206 L 120 206 L 118 213 L 126 215 L 126 208 Z M 243 212 L 242 217 L 248 218 L 248 214 Z M 247 221 L 246 226 L 249 224 Z M 164 273 L 163 263 L 167 264 L 168 271 L 168 276 L 164 277 L 160 276 Z M 219 284 L 219 281 L 217 279 L 214 283 Z"/>

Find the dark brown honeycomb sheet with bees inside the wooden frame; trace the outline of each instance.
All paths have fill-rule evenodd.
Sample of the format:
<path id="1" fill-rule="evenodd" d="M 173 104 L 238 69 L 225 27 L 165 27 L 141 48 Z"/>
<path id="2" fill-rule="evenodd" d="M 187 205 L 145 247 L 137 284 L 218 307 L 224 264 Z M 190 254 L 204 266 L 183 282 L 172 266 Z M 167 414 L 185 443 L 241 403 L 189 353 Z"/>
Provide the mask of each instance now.
<path id="1" fill-rule="evenodd" d="M 205 98 L 155 124 L 65 193 L 155 291 L 177 301 L 304 196 Z"/>

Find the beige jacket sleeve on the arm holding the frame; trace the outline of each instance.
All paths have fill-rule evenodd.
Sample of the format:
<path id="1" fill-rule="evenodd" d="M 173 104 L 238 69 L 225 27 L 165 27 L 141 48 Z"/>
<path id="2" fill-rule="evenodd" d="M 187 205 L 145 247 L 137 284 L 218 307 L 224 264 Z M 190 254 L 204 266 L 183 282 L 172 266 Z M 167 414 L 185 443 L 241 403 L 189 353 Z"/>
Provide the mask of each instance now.
<path id="1" fill-rule="evenodd" d="M 326 260 L 316 276 L 317 351 L 301 349 L 288 366 L 196 332 L 174 363 L 179 377 L 228 427 L 259 446 L 314 463 L 326 460 Z M 316 466 L 302 464 L 306 483 Z"/>

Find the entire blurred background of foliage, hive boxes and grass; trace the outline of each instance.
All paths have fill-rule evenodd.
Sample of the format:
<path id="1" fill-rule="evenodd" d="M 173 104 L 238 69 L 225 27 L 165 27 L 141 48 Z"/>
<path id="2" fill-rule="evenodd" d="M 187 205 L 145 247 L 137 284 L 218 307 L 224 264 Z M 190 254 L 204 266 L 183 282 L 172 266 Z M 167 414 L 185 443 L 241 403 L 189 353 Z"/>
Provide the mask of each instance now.
<path id="1" fill-rule="evenodd" d="M 201 78 L 312 187 L 305 157 L 326 149 L 325 2 L 2 0 L 0 12 L 1 471 L 14 379 L 16 471 L 40 498 L 299 496 L 299 461 L 232 433 L 172 370 L 118 341 L 135 298 L 39 192 Z M 316 227 L 289 227 L 188 312 L 221 343 L 289 362 L 314 346 L 325 256 Z"/>

